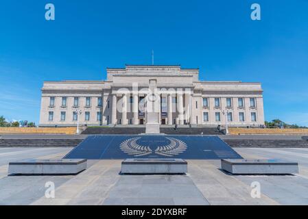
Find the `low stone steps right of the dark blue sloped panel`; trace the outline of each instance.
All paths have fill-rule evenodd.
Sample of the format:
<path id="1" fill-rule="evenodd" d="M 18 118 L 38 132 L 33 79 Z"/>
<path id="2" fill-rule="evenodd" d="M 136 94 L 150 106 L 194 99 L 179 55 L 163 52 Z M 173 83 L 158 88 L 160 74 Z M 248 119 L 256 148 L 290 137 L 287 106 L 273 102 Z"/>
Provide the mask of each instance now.
<path id="1" fill-rule="evenodd" d="M 308 148 L 304 139 L 223 139 L 231 147 Z"/>

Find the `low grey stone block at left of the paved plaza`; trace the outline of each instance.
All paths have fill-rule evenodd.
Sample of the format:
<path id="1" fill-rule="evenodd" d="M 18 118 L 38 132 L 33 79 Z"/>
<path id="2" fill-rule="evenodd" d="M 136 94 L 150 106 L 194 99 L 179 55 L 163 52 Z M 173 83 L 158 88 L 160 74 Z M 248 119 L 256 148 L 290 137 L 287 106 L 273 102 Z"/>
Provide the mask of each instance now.
<path id="1" fill-rule="evenodd" d="M 10 162 L 8 175 L 77 175 L 86 159 L 24 159 Z"/>

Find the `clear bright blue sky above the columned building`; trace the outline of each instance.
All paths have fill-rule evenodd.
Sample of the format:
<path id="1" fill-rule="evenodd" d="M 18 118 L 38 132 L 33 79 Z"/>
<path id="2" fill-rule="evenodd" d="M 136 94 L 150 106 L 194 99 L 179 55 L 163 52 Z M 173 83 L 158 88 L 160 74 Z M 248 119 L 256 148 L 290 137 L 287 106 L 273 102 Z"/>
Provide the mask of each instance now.
<path id="1" fill-rule="evenodd" d="M 43 81 L 102 80 L 106 67 L 151 64 L 154 49 L 155 64 L 202 80 L 261 82 L 266 120 L 308 125 L 307 12 L 307 0 L 1 1 L 0 115 L 38 123 Z"/>

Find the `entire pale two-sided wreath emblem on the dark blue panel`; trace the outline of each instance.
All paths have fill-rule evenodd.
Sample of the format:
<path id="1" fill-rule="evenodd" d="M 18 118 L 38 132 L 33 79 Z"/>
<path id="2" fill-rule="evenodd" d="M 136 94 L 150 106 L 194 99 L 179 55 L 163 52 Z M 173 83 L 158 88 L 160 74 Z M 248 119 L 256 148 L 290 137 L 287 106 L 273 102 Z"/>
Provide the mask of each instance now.
<path id="1" fill-rule="evenodd" d="M 134 157 L 141 157 L 145 155 L 150 155 L 153 152 L 157 155 L 163 155 L 165 157 L 173 157 L 183 153 L 187 149 L 187 144 L 176 138 L 167 138 L 170 143 L 166 146 L 158 146 L 155 151 L 152 151 L 149 146 L 141 146 L 137 144 L 137 140 L 140 138 L 130 138 L 123 141 L 120 144 L 120 149 L 127 153 L 128 155 L 133 155 Z"/>

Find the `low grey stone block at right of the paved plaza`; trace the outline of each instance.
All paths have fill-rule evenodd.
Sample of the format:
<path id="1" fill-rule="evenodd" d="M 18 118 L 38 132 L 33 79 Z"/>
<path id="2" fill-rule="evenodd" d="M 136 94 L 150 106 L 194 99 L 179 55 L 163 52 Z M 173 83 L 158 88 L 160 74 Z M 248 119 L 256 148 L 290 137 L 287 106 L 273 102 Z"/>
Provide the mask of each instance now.
<path id="1" fill-rule="evenodd" d="M 281 159 L 222 159 L 222 169 L 234 175 L 289 175 L 298 173 L 298 163 Z"/>

